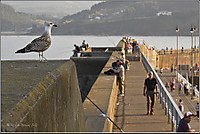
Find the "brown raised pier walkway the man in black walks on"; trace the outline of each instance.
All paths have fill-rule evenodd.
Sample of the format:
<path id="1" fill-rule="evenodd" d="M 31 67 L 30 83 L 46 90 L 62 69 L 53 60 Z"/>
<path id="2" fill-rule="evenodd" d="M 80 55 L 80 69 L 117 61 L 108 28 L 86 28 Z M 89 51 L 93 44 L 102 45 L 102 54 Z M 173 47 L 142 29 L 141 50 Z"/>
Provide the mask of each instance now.
<path id="1" fill-rule="evenodd" d="M 154 115 L 146 115 L 146 97 L 143 96 L 147 72 L 140 61 L 131 61 L 126 71 L 125 96 L 117 99 L 115 122 L 124 132 L 171 132 L 162 105 L 155 103 Z M 119 132 L 114 126 L 113 132 Z"/>

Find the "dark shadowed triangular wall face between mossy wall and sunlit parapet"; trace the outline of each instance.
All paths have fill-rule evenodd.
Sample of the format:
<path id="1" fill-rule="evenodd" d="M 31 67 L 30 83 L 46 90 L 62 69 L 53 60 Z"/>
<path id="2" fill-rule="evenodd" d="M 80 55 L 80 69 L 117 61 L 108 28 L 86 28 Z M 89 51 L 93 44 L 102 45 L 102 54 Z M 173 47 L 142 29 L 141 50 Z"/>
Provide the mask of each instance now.
<path id="1" fill-rule="evenodd" d="M 87 95 L 89 93 L 109 57 L 110 55 L 107 57 L 71 57 L 71 60 L 74 61 L 76 65 L 78 83 L 83 94 Z M 85 95 L 83 94 L 82 101 L 85 100 Z"/>

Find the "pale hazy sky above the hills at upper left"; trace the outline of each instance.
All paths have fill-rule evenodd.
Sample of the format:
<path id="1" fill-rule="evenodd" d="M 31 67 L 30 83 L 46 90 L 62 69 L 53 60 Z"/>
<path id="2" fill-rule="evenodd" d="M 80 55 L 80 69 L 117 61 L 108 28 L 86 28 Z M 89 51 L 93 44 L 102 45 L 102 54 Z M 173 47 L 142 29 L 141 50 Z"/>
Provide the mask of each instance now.
<path id="1" fill-rule="evenodd" d="M 62 18 L 63 16 L 77 13 L 84 9 L 90 9 L 95 3 L 101 1 L 1 1 L 11 5 L 16 11 L 45 14 Z"/>

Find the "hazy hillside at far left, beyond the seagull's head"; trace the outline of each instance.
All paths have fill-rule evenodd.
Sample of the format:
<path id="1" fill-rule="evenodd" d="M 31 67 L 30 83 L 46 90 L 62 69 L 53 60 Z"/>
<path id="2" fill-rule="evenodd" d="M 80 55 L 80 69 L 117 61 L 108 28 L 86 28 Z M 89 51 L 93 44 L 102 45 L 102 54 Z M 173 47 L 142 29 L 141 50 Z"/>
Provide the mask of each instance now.
<path id="1" fill-rule="evenodd" d="M 32 15 L 16 12 L 12 6 L 2 4 L 0 8 L 1 32 L 27 33 L 32 27 L 41 27 L 44 21 L 57 21 L 56 18 L 46 15 Z"/>

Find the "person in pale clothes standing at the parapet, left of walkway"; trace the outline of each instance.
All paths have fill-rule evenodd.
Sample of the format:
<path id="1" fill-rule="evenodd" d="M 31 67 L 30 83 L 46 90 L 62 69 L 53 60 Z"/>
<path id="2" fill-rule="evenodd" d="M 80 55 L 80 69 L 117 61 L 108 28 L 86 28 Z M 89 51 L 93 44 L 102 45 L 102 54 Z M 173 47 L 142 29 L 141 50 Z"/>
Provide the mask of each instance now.
<path id="1" fill-rule="evenodd" d="M 123 66 L 123 62 L 122 61 L 119 61 L 118 62 L 118 67 L 113 69 L 113 71 L 115 73 L 118 73 L 118 82 L 119 82 L 119 91 L 120 91 L 120 94 L 119 96 L 124 96 L 124 80 L 125 80 L 125 76 L 124 76 L 124 66 Z"/>

